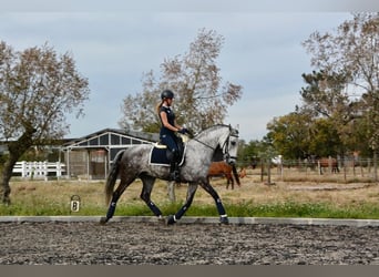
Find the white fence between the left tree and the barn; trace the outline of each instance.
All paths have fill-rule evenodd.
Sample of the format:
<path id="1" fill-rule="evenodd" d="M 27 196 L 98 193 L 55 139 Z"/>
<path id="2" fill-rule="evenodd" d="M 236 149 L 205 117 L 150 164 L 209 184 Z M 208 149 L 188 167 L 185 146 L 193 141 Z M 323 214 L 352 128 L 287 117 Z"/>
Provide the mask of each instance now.
<path id="1" fill-rule="evenodd" d="M 65 173 L 65 164 L 49 162 L 18 162 L 13 167 L 13 174 L 23 178 L 42 178 L 48 176 L 61 177 Z"/>

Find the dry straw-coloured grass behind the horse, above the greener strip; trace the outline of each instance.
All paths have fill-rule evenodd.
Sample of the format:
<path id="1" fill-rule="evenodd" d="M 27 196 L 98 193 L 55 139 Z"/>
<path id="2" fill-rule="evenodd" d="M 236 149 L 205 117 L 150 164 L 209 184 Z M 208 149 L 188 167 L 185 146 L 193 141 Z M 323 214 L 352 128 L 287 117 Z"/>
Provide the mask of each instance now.
<path id="1" fill-rule="evenodd" d="M 278 174 L 273 171 L 272 185 L 267 185 L 267 176 L 260 179 L 258 170 L 249 171 L 242 179 L 242 186 L 226 189 L 226 179 L 213 178 L 211 182 L 224 204 L 279 204 L 293 203 L 326 203 L 336 207 L 351 207 L 379 203 L 379 185 L 366 182 L 345 182 L 344 174 L 317 174 L 293 172 Z M 82 205 L 95 207 L 105 213 L 104 182 L 100 181 L 13 181 L 11 183 L 12 203 L 29 205 L 69 205 L 72 195 L 81 197 Z M 140 199 L 141 181 L 135 181 L 122 195 L 119 205 L 144 205 Z M 176 202 L 186 197 L 185 184 L 175 188 Z M 167 185 L 157 181 L 152 193 L 152 199 L 158 206 L 170 204 Z M 197 189 L 193 205 L 214 204 L 213 198 L 201 187 Z M 101 212 L 101 213 L 103 213 Z"/>

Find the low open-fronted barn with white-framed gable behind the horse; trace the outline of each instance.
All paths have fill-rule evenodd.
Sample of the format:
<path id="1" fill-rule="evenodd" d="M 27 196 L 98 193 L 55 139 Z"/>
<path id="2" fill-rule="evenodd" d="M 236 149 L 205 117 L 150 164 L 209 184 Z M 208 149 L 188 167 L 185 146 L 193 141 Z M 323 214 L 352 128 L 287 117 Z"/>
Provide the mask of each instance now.
<path id="1" fill-rule="evenodd" d="M 61 147 L 66 176 L 80 179 L 105 178 L 119 151 L 157 141 L 158 134 L 117 129 L 104 129 L 80 138 L 69 140 Z"/>

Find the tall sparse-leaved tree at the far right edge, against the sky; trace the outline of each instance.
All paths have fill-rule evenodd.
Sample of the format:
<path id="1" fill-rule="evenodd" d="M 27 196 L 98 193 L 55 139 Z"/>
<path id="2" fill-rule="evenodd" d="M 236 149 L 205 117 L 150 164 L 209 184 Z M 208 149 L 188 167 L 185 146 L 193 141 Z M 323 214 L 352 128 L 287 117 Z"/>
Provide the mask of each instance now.
<path id="1" fill-rule="evenodd" d="M 335 33 L 313 33 L 304 43 L 311 64 L 327 75 L 344 75 L 349 96 L 359 99 L 361 119 L 368 120 L 371 148 L 379 145 L 379 13 L 356 13 Z"/>

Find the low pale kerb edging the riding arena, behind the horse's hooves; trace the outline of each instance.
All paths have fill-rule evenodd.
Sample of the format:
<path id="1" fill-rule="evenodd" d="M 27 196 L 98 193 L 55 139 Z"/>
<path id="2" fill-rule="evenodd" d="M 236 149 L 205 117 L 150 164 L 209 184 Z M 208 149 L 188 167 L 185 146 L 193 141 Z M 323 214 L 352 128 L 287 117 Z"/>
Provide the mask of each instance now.
<path id="1" fill-rule="evenodd" d="M 79 223 L 93 222 L 99 223 L 100 216 L 0 216 L 0 223 Z M 126 223 L 157 223 L 155 216 L 114 216 L 113 222 Z M 215 224 L 219 225 L 218 217 L 195 217 L 185 216 L 177 224 Z M 328 226 L 379 226 L 379 219 L 334 219 L 334 218 L 290 218 L 290 217 L 229 217 L 229 224 L 248 225 L 328 225 Z M 226 225 L 227 226 L 227 225 Z"/>

